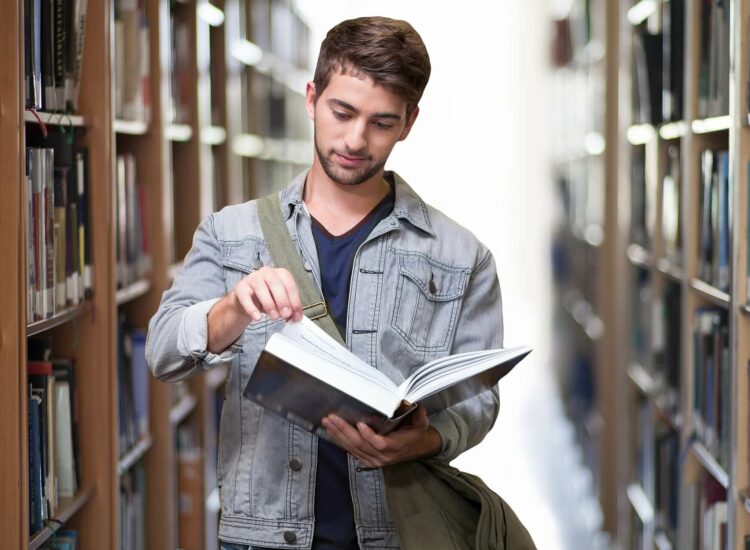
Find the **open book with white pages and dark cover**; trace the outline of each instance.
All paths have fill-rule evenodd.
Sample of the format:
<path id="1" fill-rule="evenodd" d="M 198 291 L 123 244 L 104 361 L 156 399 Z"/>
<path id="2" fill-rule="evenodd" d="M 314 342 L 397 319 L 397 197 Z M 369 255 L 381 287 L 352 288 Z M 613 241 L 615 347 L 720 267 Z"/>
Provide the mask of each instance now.
<path id="1" fill-rule="evenodd" d="M 530 351 L 449 355 L 415 369 L 397 386 L 304 317 L 268 339 L 243 395 L 324 437 L 321 421 L 331 413 L 384 434 L 418 403 L 431 414 L 491 388 Z"/>

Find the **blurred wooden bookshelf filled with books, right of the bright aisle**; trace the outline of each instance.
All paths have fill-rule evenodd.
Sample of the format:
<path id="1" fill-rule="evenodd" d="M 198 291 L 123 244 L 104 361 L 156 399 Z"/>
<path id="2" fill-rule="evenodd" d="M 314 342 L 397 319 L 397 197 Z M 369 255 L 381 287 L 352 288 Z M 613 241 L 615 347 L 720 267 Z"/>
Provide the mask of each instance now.
<path id="1" fill-rule="evenodd" d="M 591 367 L 608 369 L 597 390 L 615 401 L 612 414 L 600 413 L 601 452 L 616 463 L 602 480 L 611 484 L 600 493 L 604 526 L 624 548 L 745 548 L 750 6 L 574 4 L 606 4 L 601 25 L 616 52 L 604 61 L 616 91 L 604 100 L 615 118 L 614 134 L 604 132 L 604 202 L 619 205 L 604 213 L 612 254 L 593 282 L 584 271 L 569 283 L 624 296 L 609 313 L 599 309 L 612 340 L 600 339 L 609 359 L 594 355 Z M 587 47 L 571 34 L 569 49 Z"/>

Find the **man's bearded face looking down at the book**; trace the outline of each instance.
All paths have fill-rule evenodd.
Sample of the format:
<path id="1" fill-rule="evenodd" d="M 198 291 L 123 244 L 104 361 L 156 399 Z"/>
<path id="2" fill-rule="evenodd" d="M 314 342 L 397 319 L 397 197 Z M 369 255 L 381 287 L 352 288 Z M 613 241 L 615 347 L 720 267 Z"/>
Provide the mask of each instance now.
<path id="1" fill-rule="evenodd" d="M 320 97 L 307 85 L 307 113 L 315 123 L 315 154 L 340 185 L 359 185 L 385 166 L 396 142 L 417 116 L 406 118 L 406 101 L 367 77 L 336 73 Z"/>

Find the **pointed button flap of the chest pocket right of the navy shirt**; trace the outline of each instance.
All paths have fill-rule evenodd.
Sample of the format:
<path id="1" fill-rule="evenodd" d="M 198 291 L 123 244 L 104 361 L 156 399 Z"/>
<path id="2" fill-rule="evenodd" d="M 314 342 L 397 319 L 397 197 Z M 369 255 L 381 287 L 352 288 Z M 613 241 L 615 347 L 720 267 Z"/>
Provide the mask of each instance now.
<path id="1" fill-rule="evenodd" d="M 430 300 L 445 302 L 463 295 L 469 269 L 441 264 L 422 254 L 399 254 L 399 272 Z"/>

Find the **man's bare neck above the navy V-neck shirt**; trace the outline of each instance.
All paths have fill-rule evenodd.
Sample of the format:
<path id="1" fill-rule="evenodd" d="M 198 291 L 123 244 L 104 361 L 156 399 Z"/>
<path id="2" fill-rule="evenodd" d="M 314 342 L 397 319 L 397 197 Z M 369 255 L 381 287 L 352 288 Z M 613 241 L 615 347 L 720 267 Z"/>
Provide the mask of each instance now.
<path id="1" fill-rule="evenodd" d="M 310 215 L 331 234 L 341 235 L 357 225 L 389 192 L 383 170 L 358 185 L 341 185 L 314 164 L 307 174 L 303 200 Z"/>

